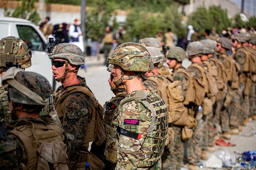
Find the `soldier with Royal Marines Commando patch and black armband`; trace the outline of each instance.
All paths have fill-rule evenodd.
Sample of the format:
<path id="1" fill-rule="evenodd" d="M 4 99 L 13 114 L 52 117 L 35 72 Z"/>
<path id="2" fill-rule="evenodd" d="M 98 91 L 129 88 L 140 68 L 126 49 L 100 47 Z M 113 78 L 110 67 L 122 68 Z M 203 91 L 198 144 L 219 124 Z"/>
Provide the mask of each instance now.
<path id="1" fill-rule="evenodd" d="M 167 137 L 168 109 L 141 81 L 154 68 L 149 52 L 141 44 L 123 43 L 109 56 L 109 63 L 114 65 L 114 84 L 122 84 L 128 95 L 107 125 L 107 159 L 117 162 L 116 170 L 156 170 Z"/>

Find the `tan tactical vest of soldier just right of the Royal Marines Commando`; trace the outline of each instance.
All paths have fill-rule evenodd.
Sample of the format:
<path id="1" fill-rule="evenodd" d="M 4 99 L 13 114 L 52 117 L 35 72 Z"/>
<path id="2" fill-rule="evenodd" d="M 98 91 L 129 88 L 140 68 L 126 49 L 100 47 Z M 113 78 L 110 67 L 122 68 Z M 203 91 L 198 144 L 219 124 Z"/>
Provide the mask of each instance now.
<path id="1" fill-rule="evenodd" d="M 168 106 L 169 123 L 175 123 L 185 112 L 183 105 L 183 91 L 180 81 L 170 82 L 164 75 L 156 75 L 156 77 L 145 77 L 145 79 L 155 82 L 159 88 L 161 98 L 164 99 Z M 182 126 L 182 124 L 179 124 Z M 184 125 L 184 124 L 183 124 Z"/>

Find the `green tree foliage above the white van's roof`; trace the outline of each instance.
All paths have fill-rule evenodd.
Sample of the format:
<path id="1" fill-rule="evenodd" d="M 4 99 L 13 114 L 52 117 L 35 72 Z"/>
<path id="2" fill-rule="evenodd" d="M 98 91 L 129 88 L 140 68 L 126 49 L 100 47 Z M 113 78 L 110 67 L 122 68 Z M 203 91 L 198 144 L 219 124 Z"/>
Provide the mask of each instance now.
<path id="1" fill-rule="evenodd" d="M 36 11 L 35 2 L 36 0 L 22 0 L 12 14 L 7 8 L 5 8 L 4 14 L 5 16 L 27 19 L 37 24 L 40 21 L 40 16 Z"/>

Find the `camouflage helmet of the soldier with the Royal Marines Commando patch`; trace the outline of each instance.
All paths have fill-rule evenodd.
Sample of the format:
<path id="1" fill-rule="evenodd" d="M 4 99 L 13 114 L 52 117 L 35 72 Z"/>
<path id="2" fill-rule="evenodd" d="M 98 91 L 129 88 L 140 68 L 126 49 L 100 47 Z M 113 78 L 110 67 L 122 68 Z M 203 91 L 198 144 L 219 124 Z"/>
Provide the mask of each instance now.
<path id="1" fill-rule="evenodd" d="M 123 43 L 110 54 L 109 64 L 118 65 L 126 71 L 147 72 L 154 68 L 149 51 L 136 42 Z"/>

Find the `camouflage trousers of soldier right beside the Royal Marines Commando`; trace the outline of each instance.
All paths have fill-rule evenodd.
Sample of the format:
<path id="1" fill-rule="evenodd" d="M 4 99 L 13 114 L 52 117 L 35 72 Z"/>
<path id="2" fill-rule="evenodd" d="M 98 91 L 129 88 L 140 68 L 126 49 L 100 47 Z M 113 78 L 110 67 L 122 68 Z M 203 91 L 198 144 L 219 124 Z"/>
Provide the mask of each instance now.
<path id="1" fill-rule="evenodd" d="M 180 170 L 183 166 L 184 142 L 181 140 L 183 126 L 173 126 L 174 140 L 164 148 L 162 170 Z"/>

